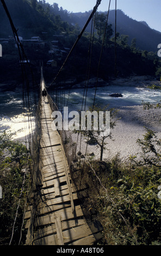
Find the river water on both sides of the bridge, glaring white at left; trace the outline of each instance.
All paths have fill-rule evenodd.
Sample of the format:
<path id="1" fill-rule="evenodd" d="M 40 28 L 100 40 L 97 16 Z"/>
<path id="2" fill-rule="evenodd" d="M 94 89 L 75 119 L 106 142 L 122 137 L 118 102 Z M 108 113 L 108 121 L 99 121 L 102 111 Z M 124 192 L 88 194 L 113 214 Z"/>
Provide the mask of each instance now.
<path id="1" fill-rule="evenodd" d="M 69 100 L 70 111 L 82 109 L 84 89 L 72 89 L 64 92 L 64 106 Z M 109 94 L 121 93 L 123 97 L 111 97 Z M 89 88 L 86 97 L 86 109 L 92 106 L 94 101 L 95 88 Z M 141 105 L 144 102 L 157 103 L 161 100 L 161 90 L 151 90 L 146 88 L 136 88 L 132 86 L 107 86 L 98 87 L 95 103 L 101 106 L 120 108 L 122 106 Z M 83 109 L 84 110 L 84 109 Z M 29 113 L 23 107 L 22 93 L 1 92 L 0 91 L 0 131 L 10 130 L 18 132 L 15 138 L 21 138 L 34 129 L 34 117 L 28 119 Z M 31 121 L 31 123 L 30 123 Z M 30 125 L 32 124 L 32 129 Z"/>

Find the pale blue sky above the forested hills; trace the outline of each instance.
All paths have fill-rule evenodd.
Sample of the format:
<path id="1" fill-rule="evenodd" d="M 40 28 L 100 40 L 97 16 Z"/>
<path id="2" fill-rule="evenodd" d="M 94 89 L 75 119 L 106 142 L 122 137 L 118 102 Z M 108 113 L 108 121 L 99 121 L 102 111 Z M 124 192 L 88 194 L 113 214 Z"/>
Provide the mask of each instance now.
<path id="1" fill-rule="evenodd" d="M 46 0 L 46 3 L 57 3 L 64 10 L 78 13 L 92 10 L 96 0 Z M 146 21 L 148 26 L 161 32 L 160 0 L 117 0 L 117 9 L 137 21 Z M 109 0 L 102 0 L 98 10 L 107 11 Z M 115 9 L 115 0 L 111 0 L 110 9 Z"/>

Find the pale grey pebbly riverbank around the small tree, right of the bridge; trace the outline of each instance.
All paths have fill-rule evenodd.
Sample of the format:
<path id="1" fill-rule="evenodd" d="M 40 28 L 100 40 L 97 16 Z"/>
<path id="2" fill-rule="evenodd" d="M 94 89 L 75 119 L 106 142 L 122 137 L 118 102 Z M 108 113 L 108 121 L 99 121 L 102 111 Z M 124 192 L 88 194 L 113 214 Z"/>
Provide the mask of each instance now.
<path id="1" fill-rule="evenodd" d="M 161 137 L 161 111 L 159 108 L 145 109 L 143 106 L 121 107 L 117 115 L 116 126 L 112 132 L 112 139 L 107 138 L 106 150 L 103 159 L 112 159 L 116 154 L 120 154 L 123 161 L 127 161 L 130 155 L 140 158 L 141 148 L 137 139 L 142 139 L 145 135 L 145 127 L 156 131 L 158 138 Z M 73 141 L 77 142 L 77 134 L 72 135 Z M 77 152 L 85 154 L 86 138 L 83 137 L 80 146 L 80 135 L 78 137 Z M 100 147 L 88 145 L 87 155 L 100 158 Z"/>

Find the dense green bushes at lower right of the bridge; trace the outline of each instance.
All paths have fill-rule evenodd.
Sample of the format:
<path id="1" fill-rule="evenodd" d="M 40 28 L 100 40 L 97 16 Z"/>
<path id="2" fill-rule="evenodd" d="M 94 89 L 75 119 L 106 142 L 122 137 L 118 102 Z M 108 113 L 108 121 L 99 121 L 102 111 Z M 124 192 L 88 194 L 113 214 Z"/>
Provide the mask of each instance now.
<path id="1" fill-rule="evenodd" d="M 94 184 L 91 189 L 95 194 L 95 198 L 90 194 L 88 203 L 103 225 L 104 245 L 160 245 L 160 168 L 134 165 L 129 169 L 119 155 L 106 161 L 100 173 L 97 163 L 91 164 L 102 185 L 92 169 L 86 167 L 86 180 Z"/>

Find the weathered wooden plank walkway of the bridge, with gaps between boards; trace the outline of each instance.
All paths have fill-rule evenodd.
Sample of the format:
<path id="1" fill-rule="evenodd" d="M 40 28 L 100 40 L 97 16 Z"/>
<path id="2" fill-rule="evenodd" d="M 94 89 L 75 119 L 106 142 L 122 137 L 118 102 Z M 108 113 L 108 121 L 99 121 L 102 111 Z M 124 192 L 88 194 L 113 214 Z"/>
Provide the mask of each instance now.
<path id="1" fill-rule="evenodd" d="M 101 239 L 100 228 L 85 221 L 61 138 L 51 126 L 51 108 L 47 99 L 46 102 L 41 100 L 41 106 L 42 202 L 34 221 L 32 245 L 92 245 Z M 82 193 L 85 189 L 85 184 L 79 188 Z M 30 235 L 31 210 L 32 205 L 25 216 L 27 237 Z"/>

